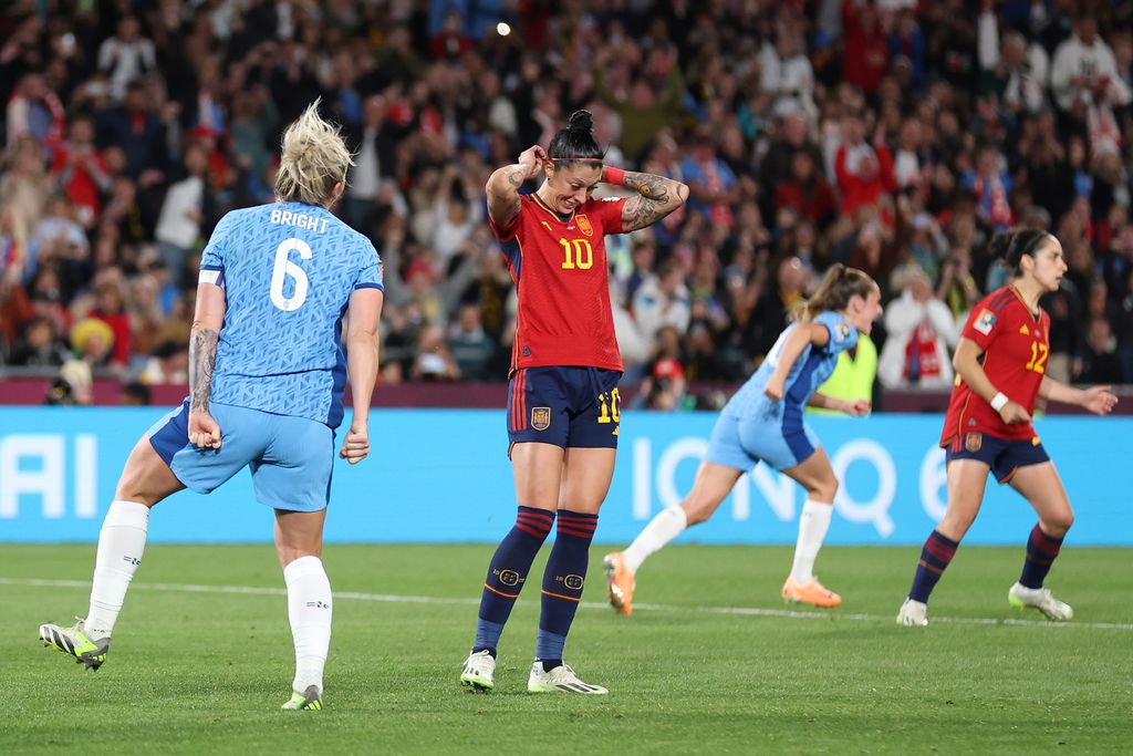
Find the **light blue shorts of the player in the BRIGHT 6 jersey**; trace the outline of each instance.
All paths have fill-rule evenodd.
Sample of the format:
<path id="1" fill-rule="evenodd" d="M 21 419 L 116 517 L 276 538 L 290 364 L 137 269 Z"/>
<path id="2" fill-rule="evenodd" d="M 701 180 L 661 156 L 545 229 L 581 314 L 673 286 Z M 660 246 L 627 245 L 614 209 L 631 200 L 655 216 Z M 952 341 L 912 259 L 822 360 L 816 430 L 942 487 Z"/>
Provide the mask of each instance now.
<path id="1" fill-rule="evenodd" d="M 220 449 L 197 449 L 189 443 L 188 399 L 146 433 L 154 451 L 186 487 L 212 493 L 250 467 L 259 503 L 297 512 L 326 508 L 334 431 L 306 417 L 233 405 L 213 402 L 208 411 L 220 424 Z"/>

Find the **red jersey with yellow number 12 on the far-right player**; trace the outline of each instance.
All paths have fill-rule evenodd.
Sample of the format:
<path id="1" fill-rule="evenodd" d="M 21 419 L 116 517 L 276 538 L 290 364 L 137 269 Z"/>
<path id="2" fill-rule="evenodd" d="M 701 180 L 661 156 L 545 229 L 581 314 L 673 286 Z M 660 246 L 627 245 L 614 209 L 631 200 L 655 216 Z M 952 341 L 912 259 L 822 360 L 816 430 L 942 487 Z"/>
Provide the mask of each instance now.
<path id="1" fill-rule="evenodd" d="M 1050 316 L 1042 308 L 1038 314 L 1031 312 L 1015 288 L 1006 286 L 972 307 L 961 335 L 983 349 L 983 372 L 993 385 L 1033 415 L 1034 398 L 1050 356 Z M 1030 423 L 1004 423 L 999 413 L 957 375 L 940 445 L 969 443 L 971 433 L 988 433 L 998 439 L 1036 438 Z M 969 445 L 979 443 L 974 436 Z"/>

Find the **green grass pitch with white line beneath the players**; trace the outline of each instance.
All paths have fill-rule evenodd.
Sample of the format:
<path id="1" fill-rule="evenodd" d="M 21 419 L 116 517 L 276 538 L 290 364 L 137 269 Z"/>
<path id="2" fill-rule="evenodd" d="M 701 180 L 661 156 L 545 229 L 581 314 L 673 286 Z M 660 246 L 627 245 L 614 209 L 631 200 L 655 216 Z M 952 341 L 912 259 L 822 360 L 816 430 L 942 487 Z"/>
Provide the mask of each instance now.
<path id="1" fill-rule="evenodd" d="M 604 606 L 604 551 L 566 661 L 606 697 L 526 693 L 542 560 L 496 690 L 472 694 L 458 676 L 492 546 L 330 545 L 326 708 L 280 712 L 293 660 L 271 546 L 151 544 L 88 672 L 36 627 L 86 611 L 94 546 L 0 545 L 0 753 L 1133 750 L 1130 550 L 1065 550 L 1048 584 L 1077 617 L 1050 626 L 1007 605 L 1022 546 L 961 549 L 928 628 L 894 623 L 911 547 L 825 549 L 819 574 L 845 598 L 833 611 L 780 600 L 789 549 L 671 547 L 638 576 L 629 619 Z"/>

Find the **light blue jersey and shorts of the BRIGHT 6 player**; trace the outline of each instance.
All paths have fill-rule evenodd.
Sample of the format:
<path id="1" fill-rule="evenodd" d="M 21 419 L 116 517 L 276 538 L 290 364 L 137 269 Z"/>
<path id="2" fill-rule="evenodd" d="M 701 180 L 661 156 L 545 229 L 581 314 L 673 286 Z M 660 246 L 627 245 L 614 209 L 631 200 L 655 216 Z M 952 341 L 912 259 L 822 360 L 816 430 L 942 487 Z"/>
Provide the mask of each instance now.
<path id="1" fill-rule="evenodd" d="M 150 443 L 198 493 L 250 466 L 262 503 L 323 509 L 343 415 L 342 315 L 357 289 L 384 290 L 374 245 L 321 206 L 235 210 L 204 249 L 201 280 L 227 301 L 210 400 L 221 448 L 188 442 L 188 399 L 150 430 Z"/>

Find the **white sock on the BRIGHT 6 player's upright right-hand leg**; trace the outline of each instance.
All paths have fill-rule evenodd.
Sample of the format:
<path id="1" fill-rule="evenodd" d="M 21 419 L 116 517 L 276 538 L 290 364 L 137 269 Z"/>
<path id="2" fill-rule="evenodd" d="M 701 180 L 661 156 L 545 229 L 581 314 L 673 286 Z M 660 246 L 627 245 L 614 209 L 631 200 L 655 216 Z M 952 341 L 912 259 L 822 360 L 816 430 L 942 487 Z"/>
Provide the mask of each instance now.
<path id="1" fill-rule="evenodd" d="M 304 693 L 308 686 L 323 689 L 323 668 L 331 646 L 331 581 L 318 557 L 300 557 L 283 568 L 287 615 L 295 639 L 295 681 Z"/>

